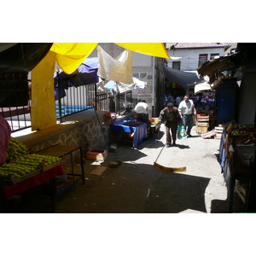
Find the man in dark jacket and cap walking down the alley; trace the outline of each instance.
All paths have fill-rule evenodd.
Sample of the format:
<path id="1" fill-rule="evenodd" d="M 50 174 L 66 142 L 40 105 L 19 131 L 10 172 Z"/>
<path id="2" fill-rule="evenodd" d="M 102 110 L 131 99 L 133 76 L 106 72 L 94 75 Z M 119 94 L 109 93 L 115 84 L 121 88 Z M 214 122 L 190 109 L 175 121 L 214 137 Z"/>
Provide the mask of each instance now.
<path id="1" fill-rule="evenodd" d="M 176 145 L 177 139 L 177 125 L 181 120 L 181 116 L 173 103 L 169 102 L 166 108 L 162 109 L 159 116 L 160 121 L 164 121 L 166 126 L 166 148 Z M 171 132 L 172 131 L 172 137 Z"/>

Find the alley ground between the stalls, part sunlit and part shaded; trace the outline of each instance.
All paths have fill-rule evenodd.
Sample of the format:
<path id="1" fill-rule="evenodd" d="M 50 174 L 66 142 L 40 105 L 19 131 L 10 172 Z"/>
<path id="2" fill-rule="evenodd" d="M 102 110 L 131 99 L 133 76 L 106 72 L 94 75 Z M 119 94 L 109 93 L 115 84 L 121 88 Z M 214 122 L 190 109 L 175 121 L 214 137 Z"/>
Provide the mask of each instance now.
<path id="1" fill-rule="evenodd" d="M 132 148 L 131 140 L 122 140 L 106 160 L 85 160 L 85 183 L 79 181 L 58 195 L 54 213 L 226 213 L 227 189 L 218 162 L 220 140 L 202 139 L 195 127 L 192 135 L 166 148 L 161 125 L 159 134 L 152 134 L 137 148 Z M 114 160 L 122 164 L 108 167 Z M 186 172 L 161 171 L 154 161 L 162 166 L 186 167 Z M 90 174 L 97 166 L 106 170 L 100 176 Z M 75 172 L 80 172 L 80 166 L 75 165 Z M 30 195 L 29 200 L 23 200 L 23 207 L 12 207 L 11 211 L 50 212 L 47 200 Z M 236 195 L 233 211 L 244 210 Z"/>

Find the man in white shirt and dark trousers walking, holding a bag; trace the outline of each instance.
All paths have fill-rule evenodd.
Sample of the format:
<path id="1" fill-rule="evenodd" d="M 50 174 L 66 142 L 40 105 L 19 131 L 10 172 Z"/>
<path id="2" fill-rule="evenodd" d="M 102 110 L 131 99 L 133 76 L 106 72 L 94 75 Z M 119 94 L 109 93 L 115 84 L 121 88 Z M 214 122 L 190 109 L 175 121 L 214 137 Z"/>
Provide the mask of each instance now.
<path id="1" fill-rule="evenodd" d="M 196 115 L 196 110 L 194 102 L 189 100 L 189 95 L 184 96 L 183 101 L 179 103 L 177 109 L 183 119 L 183 125 L 188 137 L 192 137 L 190 132 L 193 127 L 193 113 Z"/>

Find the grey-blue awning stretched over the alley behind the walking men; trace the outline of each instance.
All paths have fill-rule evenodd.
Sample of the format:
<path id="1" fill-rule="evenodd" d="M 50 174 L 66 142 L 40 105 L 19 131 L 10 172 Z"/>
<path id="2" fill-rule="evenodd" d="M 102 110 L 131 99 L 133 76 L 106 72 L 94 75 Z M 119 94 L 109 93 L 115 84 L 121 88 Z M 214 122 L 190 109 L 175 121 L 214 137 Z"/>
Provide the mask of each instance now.
<path id="1" fill-rule="evenodd" d="M 204 79 L 199 79 L 196 73 L 180 71 L 171 67 L 164 67 L 166 79 L 177 83 L 183 88 L 189 88 L 188 84 L 201 83 Z"/>

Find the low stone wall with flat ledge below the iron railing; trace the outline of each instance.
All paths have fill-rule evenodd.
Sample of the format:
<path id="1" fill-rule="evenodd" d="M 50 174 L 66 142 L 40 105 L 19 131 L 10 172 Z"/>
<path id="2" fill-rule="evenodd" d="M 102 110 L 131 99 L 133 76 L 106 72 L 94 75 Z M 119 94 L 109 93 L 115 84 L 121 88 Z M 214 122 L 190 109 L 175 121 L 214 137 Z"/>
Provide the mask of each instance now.
<path id="1" fill-rule="evenodd" d="M 55 144 L 79 146 L 83 148 L 85 158 L 90 148 L 106 149 L 109 146 L 110 126 L 102 125 L 103 114 L 94 110 L 76 113 L 66 117 L 59 125 L 16 138 L 34 152 Z M 73 157 L 74 160 L 80 159 L 79 150 L 74 151 Z M 65 162 L 69 165 L 68 158 Z"/>

